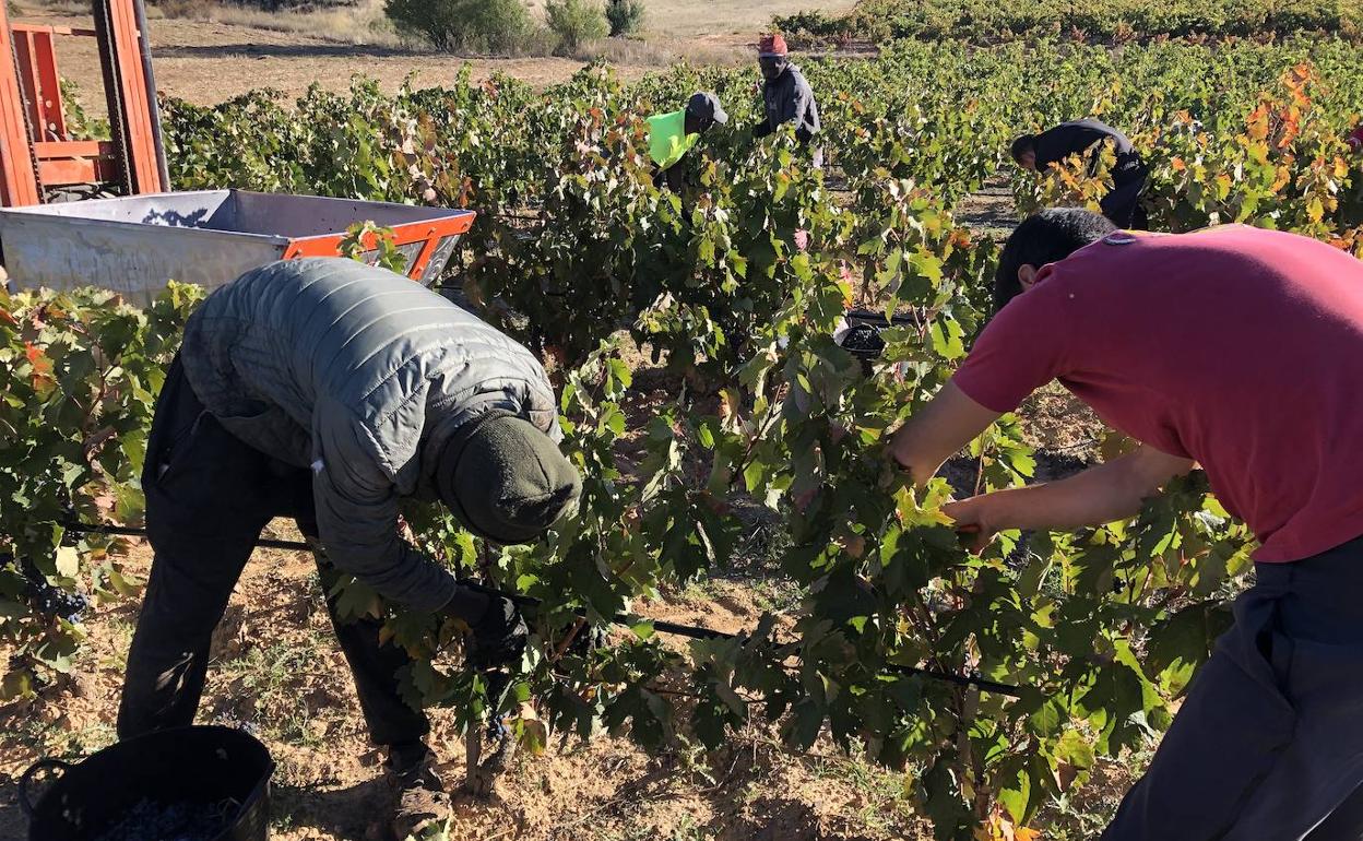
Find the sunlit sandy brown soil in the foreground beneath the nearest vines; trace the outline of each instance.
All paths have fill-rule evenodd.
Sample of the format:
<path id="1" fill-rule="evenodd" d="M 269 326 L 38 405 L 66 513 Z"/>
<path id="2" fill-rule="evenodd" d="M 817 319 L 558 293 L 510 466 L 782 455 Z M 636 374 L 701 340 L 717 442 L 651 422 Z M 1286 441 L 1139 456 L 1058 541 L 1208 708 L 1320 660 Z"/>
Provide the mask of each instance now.
<path id="1" fill-rule="evenodd" d="M 290 537 L 290 529 L 277 533 Z M 150 552 L 131 567 L 144 575 Z M 778 582 L 714 581 L 641 612 L 739 630 L 777 597 Z M 0 841 L 20 841 L 15 780 L 40 755 L 83 755 L 112 743 L 135 601 L 99 609 L 87 624 L 83 677 L 35 703 L 0 709 Z M 368 744 L 349 672 L 331 638 L 313 564 L 262 549 L 214 637 L 203 722 L 255 728 L 270 746 L 274 831 L 279 841 L 384 841 L 382 756 Z M 432 716 L 432 746 L 447 782 L 463 777 L 462 739 L 448 712 Z M 623 739 L 551 743 L 518 756 L 493 801 L 458 803 L 454 838 L 630 841 L 872 841 L 919 838 L 901 780 L 818 746 L 782 750 L 750 728 L 706 766 L 672 750 L 647 756 Z"/>

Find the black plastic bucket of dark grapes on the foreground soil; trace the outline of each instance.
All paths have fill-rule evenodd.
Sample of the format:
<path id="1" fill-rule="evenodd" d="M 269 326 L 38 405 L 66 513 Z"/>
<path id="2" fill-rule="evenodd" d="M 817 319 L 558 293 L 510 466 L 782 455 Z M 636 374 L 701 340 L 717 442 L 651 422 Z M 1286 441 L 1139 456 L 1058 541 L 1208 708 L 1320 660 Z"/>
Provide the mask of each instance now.
<path id="1" fill-rule="evenodd" d="M 60 773 L 34 801 L 38 773 Z M 79 763 L 40 759 L 19 780 L 29 841 L 93 841 L 139 804 L 194 804 L 221 811 L 213 841 L 270 834 L 270 751 L 226 727 L 184 727 L 120 741 Z"/>

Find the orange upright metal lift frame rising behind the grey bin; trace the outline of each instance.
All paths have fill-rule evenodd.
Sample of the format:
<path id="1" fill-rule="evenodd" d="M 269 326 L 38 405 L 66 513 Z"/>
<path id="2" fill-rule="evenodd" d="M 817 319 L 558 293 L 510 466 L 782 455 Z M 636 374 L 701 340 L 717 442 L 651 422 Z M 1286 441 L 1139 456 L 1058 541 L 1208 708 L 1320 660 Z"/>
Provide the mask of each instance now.
<path id="1" fill-rule="evenodd" d="M 124 195 L 169 189 L 142 0 L 93 0 L 94 29 L 8 20 L 0 1 L 0 206 L 40 204 L 78 184 Z M 61 109 L 59 37 L 99 44 L 110 140 L 72 140 Z"/>

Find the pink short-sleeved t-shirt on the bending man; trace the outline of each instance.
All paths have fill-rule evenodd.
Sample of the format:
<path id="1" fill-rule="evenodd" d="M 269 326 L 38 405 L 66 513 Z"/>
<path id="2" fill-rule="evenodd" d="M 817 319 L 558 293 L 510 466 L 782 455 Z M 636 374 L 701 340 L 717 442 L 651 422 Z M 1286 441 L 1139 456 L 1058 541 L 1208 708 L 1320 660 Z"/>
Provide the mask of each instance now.
<path id="1" fill-rule="evenodd" d="M 1363 534 L 1363 262 L 1227 225 L 1115 233 L 1045 266 L 953 382 L 1010 412 L 1059 379 L 1111 427 L 1193 458 L 1259 562 Z"/>

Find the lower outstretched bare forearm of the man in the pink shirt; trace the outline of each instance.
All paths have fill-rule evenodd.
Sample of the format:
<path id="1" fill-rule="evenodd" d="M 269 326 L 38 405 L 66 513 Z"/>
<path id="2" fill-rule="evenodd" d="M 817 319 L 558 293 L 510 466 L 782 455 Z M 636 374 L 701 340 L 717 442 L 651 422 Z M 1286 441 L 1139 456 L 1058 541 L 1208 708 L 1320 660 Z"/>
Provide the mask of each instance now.
<path id="1" fill-rule="evenodd" d="M 1191 469 L 1193 459 L 1142 444 L 1062 481 L 973 496 L 943 510 L 958 527 L 977 533 L 979 551 L 1007 529 L 1069 530 L 1131 517 L 1144 499 Z"/>

